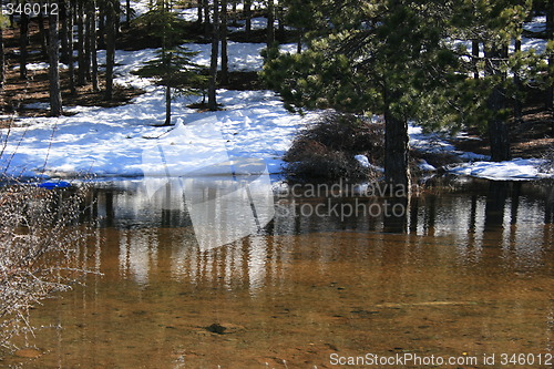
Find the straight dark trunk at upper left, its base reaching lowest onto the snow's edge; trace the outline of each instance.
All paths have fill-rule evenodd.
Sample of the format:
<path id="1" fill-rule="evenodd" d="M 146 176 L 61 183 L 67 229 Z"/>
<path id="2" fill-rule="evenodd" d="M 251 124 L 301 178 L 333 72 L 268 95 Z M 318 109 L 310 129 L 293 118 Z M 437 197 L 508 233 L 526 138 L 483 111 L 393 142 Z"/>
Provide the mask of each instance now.
<path id="1" fill-rule="evenodd" d="M 58 38 L 58 13 L 50 12 L 50 44 L 49 44 L 49 79 L 50 79 L 50 114 L 60 116 L 62 111 L 62 95 L 60 89 L 60 40 Z"/>

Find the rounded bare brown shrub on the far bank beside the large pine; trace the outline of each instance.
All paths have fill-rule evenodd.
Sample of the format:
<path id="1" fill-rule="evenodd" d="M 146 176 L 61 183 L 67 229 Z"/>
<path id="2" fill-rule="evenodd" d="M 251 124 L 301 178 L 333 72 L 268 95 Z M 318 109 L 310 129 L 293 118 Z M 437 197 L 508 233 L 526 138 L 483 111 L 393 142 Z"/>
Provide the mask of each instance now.
<path id="1" fill-rule="evenodd" d="M 285 154 L 289 177 L 305 180 L 363 180 L 376 176 L 355 155 L 366 155 L 381 165 L 384 147 L 382 123 L 372 123 L 353 114 L 327 113 L 305 129 Z"/>

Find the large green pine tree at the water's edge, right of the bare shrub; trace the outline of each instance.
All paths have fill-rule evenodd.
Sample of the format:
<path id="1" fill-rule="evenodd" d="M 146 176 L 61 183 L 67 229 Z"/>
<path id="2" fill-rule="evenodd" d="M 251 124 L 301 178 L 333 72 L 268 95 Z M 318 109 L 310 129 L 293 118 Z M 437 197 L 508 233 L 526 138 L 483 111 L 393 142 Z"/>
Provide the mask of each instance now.
<path id="1" fill-rule="evenodd" d="M 442 42 L 448 8 L 388 0 L 329 9 L 330 34 L 301 54 L 268 58 L 263 76 L 289 105 L 383 114 L 386 180 L 408 188 L 408 120 L 456 62 Z"/>

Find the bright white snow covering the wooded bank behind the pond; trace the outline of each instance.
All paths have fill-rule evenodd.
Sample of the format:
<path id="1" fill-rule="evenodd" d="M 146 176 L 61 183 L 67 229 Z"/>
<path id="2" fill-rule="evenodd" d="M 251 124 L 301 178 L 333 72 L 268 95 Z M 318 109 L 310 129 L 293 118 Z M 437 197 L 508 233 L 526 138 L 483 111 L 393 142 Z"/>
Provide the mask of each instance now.
<path id="1" fill-rule="evenodd" d="M 135 7 L 136 6 L 136 7 Z M 144 9 L 133 4 L 138 12 Z M 183 12 L 194 16 L 193 10 Z M 260 21 L 260 24 L 264 22 Z M 257 24 L 257 22 L 255 22 Z M 533 24 L 533 27 L 540 27 Z M 187 44 L 199 53 L 195 62 L 207 65 L 209 45 Z M 229 66 L 232 71 L 258 71 L 263 59 L 259 55 L 264 44 L 229 43 Z M 281 47 L 294 52 L 295 45 Z M 168 152 L 191 153 L 183 160 L 170 163 L 172 173 L 187 173 L 213 158 L 214 164 L 225 155 L 264 160 L 269 172 L 281 171 L 280 161 L 290 146 L 295 133 L 318 113 L 306 116 L 290 114 L 280 99 L 270 91 L 217 92 L 219 112 L 196 112 L 186 107 L 199 98 L 178 98 L 173 102 L 175 127 L 155 127 L 164 121 L 164 94 L 148 80 L 131 72 L 151 60 L 155 50 L 117 51 L 115 69 L 116 83 L 133 85 L 146 91 L 132 103 L 117 107 L 66 109 L 75 113 L 62 117 L 17 119 L 11 130 L 0 130 L 0 168 L 19 176 L 73 176 L 93 174 L 96 176 L 143 176 L 164 175 L 162 164 L 145 160 L 160 157 L 151 155 L 160 147 Z M 105 55 L 99 53 L 102 62 Z M 32 65 L 41 69 L 48 64 Z M 28 107 L 44 109 L 43 103 Z M 192 122 L 199 122 L 189 124 Z M 205 127 L 205 129 L 202 129 Z M 424 134 L 418 126 L 410 126 L 410 144 L 434 152 L 454 152 L 470 163 L 451 168 L 452 173 L 493 180 L 531 180 L 553 174 L 540 173 L 538 160 L 514 160 L 506 163 L 490 163 L 488 157 L 472 153 L 455 152 L 440 135 Z M 2 148 L 3 147 L 3 148 Z M 192 150 L 194 147 L 194 150 Z M 198 152 L 198 155 L 194 153 Z M 157 165 L 160 164 L 160 165 Z"/>

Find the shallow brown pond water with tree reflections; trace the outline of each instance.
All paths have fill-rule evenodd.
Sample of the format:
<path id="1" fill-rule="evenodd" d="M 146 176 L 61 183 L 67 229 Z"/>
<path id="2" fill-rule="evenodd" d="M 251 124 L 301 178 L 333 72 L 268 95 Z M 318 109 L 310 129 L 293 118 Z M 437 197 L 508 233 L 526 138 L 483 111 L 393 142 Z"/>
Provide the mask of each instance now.
<path id="1" fill-rule="evenodd" d="M 552 187 L 432 191 L 392 224 L 277 213 L 264 232 L 207 252 L 184 212 L 144 199 L 136 184 L 93 197 L 86 265 L 102 275 L 38 307 L 40 356 L 1 366 L 343 368 L 373 353 L 478 360 L 434 366 L 452 368 L 515 367 L 503 353 L 533 355 L 519 368 L 554 365 Z M 365 363 L 351 367 L 380 367 Z"/>

